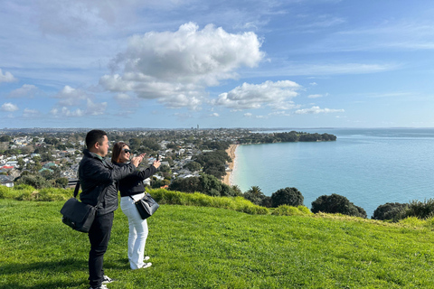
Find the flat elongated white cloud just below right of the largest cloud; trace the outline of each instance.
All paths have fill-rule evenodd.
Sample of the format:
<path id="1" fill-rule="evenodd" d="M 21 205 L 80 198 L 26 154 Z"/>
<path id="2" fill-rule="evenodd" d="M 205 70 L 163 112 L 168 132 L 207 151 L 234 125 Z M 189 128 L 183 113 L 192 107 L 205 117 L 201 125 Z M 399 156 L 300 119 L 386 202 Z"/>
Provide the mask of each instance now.
<path id="1" fill-rule="evenodd" d="M 288 99 L 297 97 L 296 90 L 300 88 L 296 82 L 290 80 L 265 81 L 261 84 L 243 83 L 230 92 L 222 93 L 212 103 L 235 109 L 259 108 L 265 104 L 288 107 Z"/>

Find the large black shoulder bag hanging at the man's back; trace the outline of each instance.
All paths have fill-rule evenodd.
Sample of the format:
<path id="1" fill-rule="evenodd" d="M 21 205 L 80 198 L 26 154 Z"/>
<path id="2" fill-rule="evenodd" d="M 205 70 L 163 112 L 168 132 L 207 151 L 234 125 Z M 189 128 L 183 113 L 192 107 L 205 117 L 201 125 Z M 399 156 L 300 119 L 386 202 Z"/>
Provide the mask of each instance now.
<path id="1" fill-rule="evenodd" d="M 80 188 L 80 181 L 75 185 L 74 197 L 67 200 L 61 208 L 61 214 L 63 217 L 61 221 L 69 227 L 83 233 L 88 233 L 92 226 L 95 215 L 97 214 L 97 207 L 105 191 L 102 191 L 98 198 L 97 205 L 91 206 L 77 200 L 77 194 Z"/>

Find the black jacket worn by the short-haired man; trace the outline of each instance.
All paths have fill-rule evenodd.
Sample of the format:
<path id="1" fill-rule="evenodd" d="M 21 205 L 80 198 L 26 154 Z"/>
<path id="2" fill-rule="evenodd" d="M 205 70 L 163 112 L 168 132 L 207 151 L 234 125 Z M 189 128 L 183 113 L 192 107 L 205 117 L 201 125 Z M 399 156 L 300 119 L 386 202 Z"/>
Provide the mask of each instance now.
<path id="1" fill-rule="evenodd" d="M 104 199 L 98 206 L 98 215 L 117 210 L 118 188 L 115 182 L 135 172 L 136 167 L 131 163 L 122 167 L 114 166 L 87 149 L 83 151 L 83 154 L 79 166 L 80 200 L 95 206 L 98 203 L 99 194 L 105 191 Z"/>

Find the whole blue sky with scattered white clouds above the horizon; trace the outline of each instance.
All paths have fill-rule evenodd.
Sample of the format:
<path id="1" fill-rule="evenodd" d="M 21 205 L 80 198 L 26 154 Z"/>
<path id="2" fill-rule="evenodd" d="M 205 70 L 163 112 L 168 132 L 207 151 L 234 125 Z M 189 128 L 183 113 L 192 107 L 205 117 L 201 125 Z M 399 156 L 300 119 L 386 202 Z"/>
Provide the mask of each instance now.
<path id="1" fill-rule="evenodd" d="M 2 0 L 3 127 L 434 127 L 434 2 Z"/>

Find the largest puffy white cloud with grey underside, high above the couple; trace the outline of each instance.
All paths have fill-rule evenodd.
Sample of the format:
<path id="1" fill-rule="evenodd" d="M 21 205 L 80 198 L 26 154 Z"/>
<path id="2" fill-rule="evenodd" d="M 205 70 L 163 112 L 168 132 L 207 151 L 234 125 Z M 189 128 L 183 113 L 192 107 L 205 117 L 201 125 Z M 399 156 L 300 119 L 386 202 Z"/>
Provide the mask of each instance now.
<path id="1" fill-rule="evenodd" d="M 113 60 L 123 74 L 105 75 L 99 84 L 110 91 L 132 91 L 157 98 L 167 107 L 198 109 L 205 88 L 238 77 L 241 67 L 255 67 L 264 57 L 255 33 L 227 33 L 221 27 L 185 23 L 178 31 L 132 36 L 127 50 Z"/>

